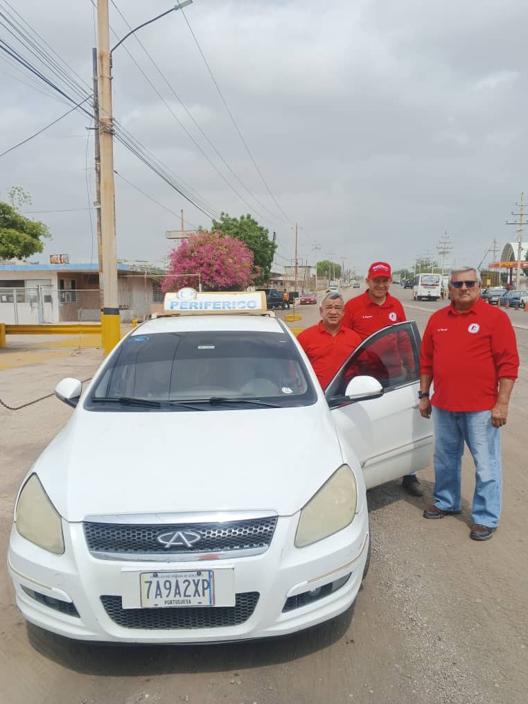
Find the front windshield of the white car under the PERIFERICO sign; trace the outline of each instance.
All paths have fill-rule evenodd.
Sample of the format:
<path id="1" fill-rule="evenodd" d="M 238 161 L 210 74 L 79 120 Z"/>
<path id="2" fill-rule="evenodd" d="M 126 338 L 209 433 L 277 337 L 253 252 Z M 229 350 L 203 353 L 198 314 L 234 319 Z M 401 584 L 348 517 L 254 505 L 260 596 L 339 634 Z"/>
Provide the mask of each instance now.
<path id="1" fill-rule="evenodd" d="M 265 403 L 248 403 L 251 400 Z M 158 332 L 123 341 L 101 370 L 84 407 L 127 412 L 247 410 L 308 406 L 315 400 L 306 367 L 286 333 Z"/>

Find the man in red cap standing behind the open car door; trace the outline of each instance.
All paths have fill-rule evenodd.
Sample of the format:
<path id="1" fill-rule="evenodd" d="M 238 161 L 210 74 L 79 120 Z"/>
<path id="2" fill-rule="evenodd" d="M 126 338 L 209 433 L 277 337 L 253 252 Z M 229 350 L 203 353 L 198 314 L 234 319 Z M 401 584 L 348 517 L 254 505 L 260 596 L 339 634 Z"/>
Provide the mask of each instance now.
<path id="1" fill-rule="evenodd" d="M 346 302 L 343 325 L 358 333 L 362 340 L 387 325 L 407 320 L 398 298 L 389 294 L 392 283 L 391 265 L 374 262 L 367 274 L 367 290 L 364 294 Z M 422 496 L 416 474 L 406 474 L 402 485 L 413 496 Z"/>

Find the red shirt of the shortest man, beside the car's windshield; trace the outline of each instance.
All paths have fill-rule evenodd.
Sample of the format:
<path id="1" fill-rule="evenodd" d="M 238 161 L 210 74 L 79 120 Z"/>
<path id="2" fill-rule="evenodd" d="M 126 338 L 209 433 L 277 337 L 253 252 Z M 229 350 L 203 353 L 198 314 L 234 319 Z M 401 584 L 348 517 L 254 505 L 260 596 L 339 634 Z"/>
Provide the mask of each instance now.
<path id="1" fill-rule="evenodd" d="M 337 334 L 332 335 L 321 321 L 318 325 L 303 330 L 297 339 L 306 352 L 323 389 L 332 381 L 344 360 L 361 341 L 356 332 L 343 325 Z"/>

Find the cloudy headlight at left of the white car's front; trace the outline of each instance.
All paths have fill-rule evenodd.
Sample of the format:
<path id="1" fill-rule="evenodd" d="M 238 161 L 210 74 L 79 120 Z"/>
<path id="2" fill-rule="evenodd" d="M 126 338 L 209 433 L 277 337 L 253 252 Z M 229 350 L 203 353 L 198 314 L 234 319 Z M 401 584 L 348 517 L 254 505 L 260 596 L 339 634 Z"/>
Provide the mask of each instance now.
<path id="1" fill-rule="evenodd" d="M 18 533 L 38 545 L 39 548 L 56 555 L 64 552 L 61 516 L 49 500 L 37 474 L 32 474 L 25 483 L 15 513 Z"/>

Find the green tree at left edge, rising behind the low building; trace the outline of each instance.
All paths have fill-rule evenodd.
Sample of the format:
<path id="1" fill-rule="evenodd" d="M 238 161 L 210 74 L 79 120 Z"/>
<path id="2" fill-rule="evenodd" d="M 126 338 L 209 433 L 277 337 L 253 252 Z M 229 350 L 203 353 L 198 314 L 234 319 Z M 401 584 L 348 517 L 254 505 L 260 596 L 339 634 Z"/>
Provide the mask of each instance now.
<path id="1" fill-rule="evenodd" d="M 20 186 L 8 190 L 11 203 L 0 201 L 0 259 L 23 259 L 42 252 L 44 237 L 51 237 L 47 225 L 20 214 L 20 207 L 31 203 L 31 196 Z"/>

